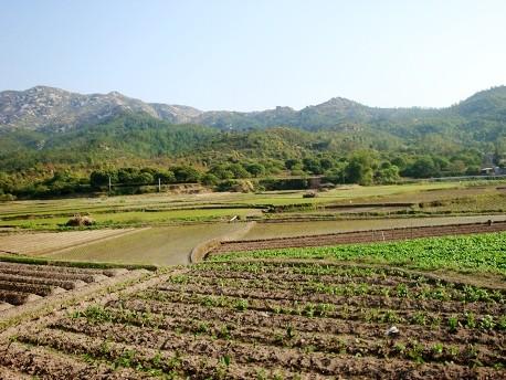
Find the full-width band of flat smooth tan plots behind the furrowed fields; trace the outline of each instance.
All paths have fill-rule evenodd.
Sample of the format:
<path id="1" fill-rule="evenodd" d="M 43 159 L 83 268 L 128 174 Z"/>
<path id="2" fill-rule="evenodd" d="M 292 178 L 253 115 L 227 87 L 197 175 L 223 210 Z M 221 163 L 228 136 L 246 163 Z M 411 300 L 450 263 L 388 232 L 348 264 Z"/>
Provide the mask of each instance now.
<path id="1" fill-rule="evenodd" d="M 199 223 L 140 229 L 105 229 L 0 234 L 0 253 L 57 260 L 129 264 L 187 264 L 190 251 L 211 239 L 295 238 L 423 225 L 504 221 L 506 217 L 444 217 L 255 223 Z M 241 233 L 244 231 L 244 233 Z M 378 240 L 378 239 L 376 239 Z M 321 244 L 317 244 L 321 245 Z"/>

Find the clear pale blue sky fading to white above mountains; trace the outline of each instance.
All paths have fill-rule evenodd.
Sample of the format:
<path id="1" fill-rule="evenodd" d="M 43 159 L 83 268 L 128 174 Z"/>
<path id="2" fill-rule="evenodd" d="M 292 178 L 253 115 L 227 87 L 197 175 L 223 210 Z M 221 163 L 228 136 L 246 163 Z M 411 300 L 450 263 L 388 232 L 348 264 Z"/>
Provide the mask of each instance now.
<path id="1" fill-rule="evenodd" d="M 0 0 L 0 91 L 445 107 L 506 84 L 505 20 L 504 0 Z"/>

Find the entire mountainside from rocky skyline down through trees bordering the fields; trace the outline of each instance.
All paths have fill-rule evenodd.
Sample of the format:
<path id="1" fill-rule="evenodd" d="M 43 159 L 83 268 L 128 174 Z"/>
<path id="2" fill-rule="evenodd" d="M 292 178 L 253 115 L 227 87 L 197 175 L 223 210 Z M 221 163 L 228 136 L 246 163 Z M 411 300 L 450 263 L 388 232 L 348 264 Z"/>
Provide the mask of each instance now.
<path id="1" fill-rule="evenodd" d="M 63 187 L 89 184 L 91 175 L 101 171 L 116 172 L 122 181 L 128 176 L 118 177 L 117 170 L 125 168 L 149 172 L 126 180 L 144 178 L 143 183 L 164 177 L 219 186 L 314 175 L 334 182 L 384 183 L 477 175 L 484 165 L 504 166 L 506 152 L 505 86 L 442 109 L 372 108 L 333 98 L 302 110 L 256 113 L 202 113 L 117 93 L 88 98 L 36 88 L 0 96 L 3 193 L 30 196 L 40 192 L 36 186 L 52 189 L 62 181 Z M 198 173 L 178 176 L 181 167 Z"/>

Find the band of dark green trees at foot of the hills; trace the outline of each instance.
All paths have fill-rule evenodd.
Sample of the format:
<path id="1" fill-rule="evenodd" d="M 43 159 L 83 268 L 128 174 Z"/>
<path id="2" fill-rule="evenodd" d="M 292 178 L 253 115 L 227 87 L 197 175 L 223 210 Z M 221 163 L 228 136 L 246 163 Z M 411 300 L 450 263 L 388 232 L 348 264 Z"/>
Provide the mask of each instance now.
<path id="1" fill-rule="evenodd" d="M 397 183 L 402 178 L 431 178 L 444 176 L 478 175 L 482 157 L 477 151 L 466 151 L 450 158 L 438 155 L 384 154 L 377 150 L 358 150 L 339 157 L 317 154 L 286 159 L 203 159 L 197 165 L 164 166 L 106 166 L 87 168 L 60 168 L 32 170 L 20 173 L 0 172 L 0 199 L 61 197 L 108 191 L 109 181 L 116 192 L 119 187 L 133 191 L 146 186 L 200 183 L 217 191 L 274 190 L 292 186 L 304 188 L 304 181 L 277 182 L 276 178 L 321 177 L 333 184 L 358 183 L 362 186 Z M 251 184 L 244 186 L 244 180 Z M 292 183 L 292 184 L 289 184 Z"/>

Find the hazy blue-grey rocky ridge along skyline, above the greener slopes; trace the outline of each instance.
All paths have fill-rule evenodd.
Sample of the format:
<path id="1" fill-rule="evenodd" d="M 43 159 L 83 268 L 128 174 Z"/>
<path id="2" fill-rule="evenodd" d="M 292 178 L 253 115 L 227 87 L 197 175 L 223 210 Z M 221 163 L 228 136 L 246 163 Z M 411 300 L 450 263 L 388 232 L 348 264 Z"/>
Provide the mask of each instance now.
<path id="1" fill-rule="evenodd" d="M 80 94 L 50 86 L 25 91 L 0 92 L 0 128 L 38 130 L 53 127 L 68 129 L 102 123 L 125 112 L 144 113 L 171 124 L 200 124 L 219 129 L 250 129 L 292 126 L 303 129 L 335 127 L 341 123 L 401 122 L 433 115 L 479 116 L 498 109 L 506 115 L 506 86 L 492 87 L 443 108 L 371 107 L 358 102 L 333 97 L 302 109 L 277 106 L 254 112 L 200 110 L 186 105 L 146 103 L 118 92 Z"/>

